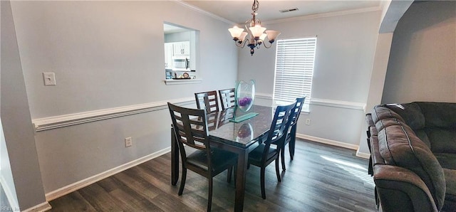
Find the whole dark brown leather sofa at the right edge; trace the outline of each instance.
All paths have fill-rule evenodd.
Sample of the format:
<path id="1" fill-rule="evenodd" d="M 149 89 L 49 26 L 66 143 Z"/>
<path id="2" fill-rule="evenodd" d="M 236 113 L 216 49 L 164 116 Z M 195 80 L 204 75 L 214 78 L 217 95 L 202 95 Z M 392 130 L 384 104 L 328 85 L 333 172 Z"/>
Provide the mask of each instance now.
<path id="1" fill-rule="evenodd" d="M 381 211 L 456 211 L 456 103 L 377 105 L 366 115 Z"/>

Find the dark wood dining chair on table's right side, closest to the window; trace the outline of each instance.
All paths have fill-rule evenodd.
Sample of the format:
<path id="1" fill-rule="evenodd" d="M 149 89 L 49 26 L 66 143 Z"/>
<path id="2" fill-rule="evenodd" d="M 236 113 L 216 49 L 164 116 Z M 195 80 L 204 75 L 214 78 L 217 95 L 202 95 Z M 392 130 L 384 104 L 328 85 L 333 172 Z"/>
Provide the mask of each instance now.
<path id="1" fill-rule="evenodd" d="M 294 157 L 294 147 L 296 145 L 296 128 L 298 124 L 298 118 L 301 114 L 302 106 L 304 105 L 304 100 L 306 97 L 296 98 L 296 105 L 294 106 L 293 116 L 291 117 L 291 124 L 289 127 L 289 132 L 286 134 L 286 139 L 284 141 L 284 148 L 281 149 L 281 162 L 282 162 L 282 170 L 285 169 L 285 146 L 289 144 L 289 152 L 290 158 L 293 160 Z"/>

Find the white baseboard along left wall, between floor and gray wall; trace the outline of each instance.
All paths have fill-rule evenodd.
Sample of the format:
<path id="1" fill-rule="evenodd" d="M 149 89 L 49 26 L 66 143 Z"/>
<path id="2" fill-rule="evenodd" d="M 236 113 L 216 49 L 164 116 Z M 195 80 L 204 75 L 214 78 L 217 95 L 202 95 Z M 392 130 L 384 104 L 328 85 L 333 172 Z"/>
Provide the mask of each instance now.
<path id="1" fill-rule="evenodd" d="M 171 147 L 167 147 L 165 149 L 162 149 L 158 152 L 154 152 L 152 154 L 146 155 L 145 157 L 141 157 L 139 159 L 135 159 L 134 161 L 130 161 L 126 164 L 117 166 L 113 169 L 109 169 L 108 171 L 103 171 L 100 174 L 96 174 L 94 176 L 90 176 L 87 179 L 83 179 L 81 181 L 77 181 L 76 183 L 70 184 L 68 186 L 65 186 L 61 189 L 57 189 L 55 191 L 51 191 L 46 193 L 46 201 L 52 201 L 53 199 L 59 198 L 61 196 L 64 196 L 66 194 L 70 194 L 73 191 L 76 191 L 78 189 L 82 189 L 83 187 L 86 187 L 90 184 L 93 184 L 97 181 L 100 181 L 102 179 L 105 179 L 109 176 L 113 176 L 114 174 L 118 174 L 121 171 L 125 171 L 126 169 L 130 169 L 133 166 L 138 166 L 139 164 L 144 163 L 145 161 L 149 161 L 150 159 L 154 159 L 156 157 L 160 157 L 162 154 L 166 154 L 171 151 Z"/>

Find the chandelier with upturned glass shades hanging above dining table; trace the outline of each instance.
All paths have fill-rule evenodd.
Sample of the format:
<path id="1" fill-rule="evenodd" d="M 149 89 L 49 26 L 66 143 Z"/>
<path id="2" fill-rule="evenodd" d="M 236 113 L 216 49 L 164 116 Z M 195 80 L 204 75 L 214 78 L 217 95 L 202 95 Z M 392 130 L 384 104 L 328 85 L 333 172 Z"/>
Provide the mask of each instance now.
<path id="1" fill-rule="evenodd" d="M 258 0 L 254 0 L 254 4 L 252 4 L 253 17 L 252 19 L 245 21 L 245 31 L 244 28 L 239 28 L 237 26 L 228 29 L 229 33 L 231 33 L 231 36 L 233 37 L 236 46 L 244 48 L 246 43 L 248 43 L 247 46 L 249 46 L 250 54 L 252 56 L 255 53 L 255 48 L 259 48 L 261 44 L 263 44 L 265 48 L 271 48 L 272 43 L 274 43 L 277 36 L 280 34 L 279 31 L 266 30 L 265 27 L 261 26 L 261 21 L 256 18 L 258 6 Z M 266 42 L 264 42 L 264 39 L 266 38 L 269 42 L 269 46 L 267 46 Z"/>

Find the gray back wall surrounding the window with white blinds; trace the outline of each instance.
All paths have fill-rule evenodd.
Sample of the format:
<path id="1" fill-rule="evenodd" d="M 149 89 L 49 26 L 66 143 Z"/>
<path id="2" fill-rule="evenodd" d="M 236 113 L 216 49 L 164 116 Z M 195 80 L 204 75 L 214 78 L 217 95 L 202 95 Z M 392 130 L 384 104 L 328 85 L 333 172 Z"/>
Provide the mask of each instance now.
<path id="1" fill-rule="evenodd" d="M 310 113 L 301 115 L 299 119 L 299 134 L 357 149 L 364 122 L 363 105 L 368 97 L 380 14 L 378 9 L 263 24 L 266 28 L 281 31 L 279 39 L 317 36 L 311 91 L 314 102 L 311 102 Z M 275 53 L 275 44 L 270 49 L 260 48 L 253 57 L 248 49 L 242 49 L 239 52 L 239 79 L 257 79 L 257 92 L 271 97 L 274 90 Z M 353 105 L 356 107 L 353 108 Z M 311 125 L 305 124 L 308 118 L 311 119 Z"/>

